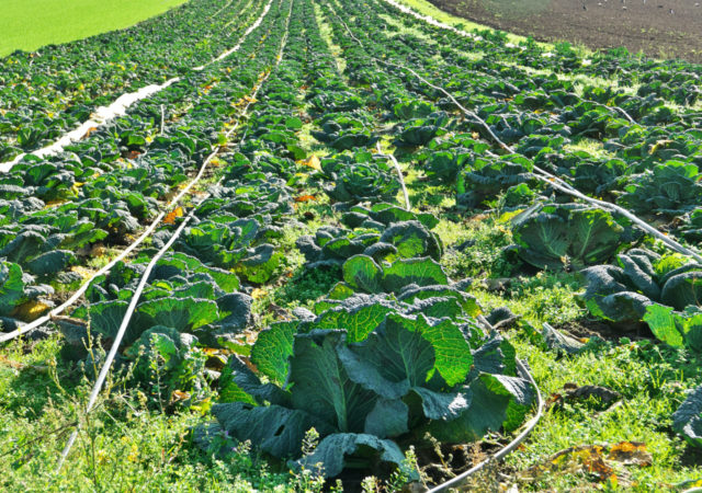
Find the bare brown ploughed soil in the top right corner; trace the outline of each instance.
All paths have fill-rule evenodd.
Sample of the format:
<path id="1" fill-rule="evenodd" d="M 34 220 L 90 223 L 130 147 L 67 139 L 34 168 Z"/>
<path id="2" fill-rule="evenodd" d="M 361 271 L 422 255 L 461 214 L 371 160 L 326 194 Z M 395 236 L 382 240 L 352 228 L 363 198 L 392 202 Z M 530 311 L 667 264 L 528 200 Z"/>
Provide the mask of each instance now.
<path id="1" fill-rule="evenodd" d="M 626 47 L 702 62 L 702 0 L 430 0 L 471 21 L 539 41 Z"/>

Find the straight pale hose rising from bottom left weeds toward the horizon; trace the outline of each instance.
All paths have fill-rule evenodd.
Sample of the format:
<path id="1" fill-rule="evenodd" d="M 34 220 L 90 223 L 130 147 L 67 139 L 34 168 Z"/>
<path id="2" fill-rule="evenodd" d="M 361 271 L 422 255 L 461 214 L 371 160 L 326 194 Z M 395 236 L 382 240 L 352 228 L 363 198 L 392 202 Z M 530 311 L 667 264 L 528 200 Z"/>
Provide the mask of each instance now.
<path id="1" fill-rule="evenodd" d="M 285 48 L 285 44 L 287 43 L 287 30 L 290 28 L 290 18 L 292 16 L 293 3 L 294 3 L 294 0 L 291 0 L 291 3 L 290 3 L 291 7 L 290 7 L 290 11 L 288 11 L 287 20 L 286 20 L 286 25 L 285 25 L 285 35 L 283 36 L 282 42 L 281 42 L 281 48 L 280 48 L 280 51 L 279 51 L 279 56 L 278 56 L 278 59 L 276 59 L 275 67 L 278 67 L 280 65 L 280 61 L 282 59 L 282 54 L 283 54 L 283 50 Z M 258 94 L 258 91 L 261 89 L 262 84 L 265 82 L 265 80 L 268 80 L 268 78 L 270 77 L 271 73 L 272 73 L 272 70 L 270 70 L 265 74 L 265 77 L 263 79 L 261 79 L 261 81 L 259 81 L 259 83 L 258 83 L 258 85 L 256 88 L 256 91 L 253 92 L 253 96 L 256 96 L 256 94 Z M 251 100 L 254 100 L 254 98 L 251 98 Z M 247 103 L 244 113 L 246 113 L 246 111 L 248 111 L 248 108 L 249 108 L 249 106 L 251 104 L 252 104 L 252 102 Z M 237 126 L 238 126 L 238 122 L 237 122 Z M 231 135 L 231 133 L 235 131 L 235 129 L 236 129 L 236 127 L 233 127 L 231 129 L 229 129 L 228 133 L 227 133 L 227 137 L 229 137 Z M 216 156 L 216 153 L 218 152 L 218 150 L 220 148 L 218 148 L 217 151 L 213 152 L 208 159 L 214 158 L 214 156 Z M 220 184 L 223 181 L 224 181 L 224 176 L 222 179 L 219 179 L 217 184 Z M 148 279 L 149 279 L 149 276 L 151 274 L 151 271 L 154 270 L 154 267 L 156 266 L 158 261 L 166 254 L 166 252 L 168 252 L 170 250 L 170 248 L 173 245 L 176 240 L 178 240 L 178 238 L 183 232 L 183 230 L 185 229 L 185 227 L 188 226 L 190 220 L 195 216 L 195 211 L 197 210 L 197 206 L 200 206 L 211 195 L 212 195 L 212 193 L 207 193 L 203 197 L 200 198 L 200 200 L 197 202 L 197 205 L 192 208 L 190 214 L 183 219 L 183 221 L 176 229 L 176 231 L 173 231 L 173 233 L 171 234 L 171 237 L 168 240 L 168 242 L 156 253 L 156 255 L 154 255 L 151 261 L 148 263 L 144 274 L 141 275 L 141 278 L 139 279 L 139 284 L 137 285 L 137 287 L 136 287 L 136 289 L 134 291 L 134 295 L 132 296 L 132 299 L 129 300 L 129 305 L 127 307 L 126 313 L 125 313 L 124 318 L 122 319 L 122 323 L 120 324 L 120 329 L 117 330 L 117 334 L 115 335 L 115 339 L 114 339 L 114 341 L 112 343 L 112 347 L 110 347 L 110 353 L 107 354 L 107 357 L 105 358 L 105 362 L 103 363 L 102 368 L 100 369 L 100 374 L 98 376 L 98 379 L 95 380 L 95 383 L 94 383 L 94 386 L 92 388 L 92 391 L 90 392 L 90 398 L 88 400 L 88 405 L 86 406 L 86 414 L 88 414 L 88 413 L 90 413 L 90 411 L 92 411 L 93 406 L 95 405 L 95 402 L 98 401 L 98 395 L 100 394 L 100 391 L 102 390 L 102 386 L 105 382 L 107 374 L 110 372 L 110 369 L 112 368 L 112 363 L 114 362 L 114 358 L 115 358 L 115 356 L 117 354 L 117 351 L 120 348 L 120 344 L 122 343 L 122 339 L 124 337 L 124 334 L 125 334 L 125 332 L 127 330 L 127 326 L 129 325 L 129 322 L 132 321 L 132 316 L 136 311 L 136 306 L 139 302 L 139 298 L 141 297 L 141 293 L 144 291 L 144 289 L 146 287 L 146 284 L 148 283 Z M 68 438 L 68 443 L 66 444 L 66 446 L 64 447 L 64 450 L 61 451 L 60 459 L 59 459 L 58 465 L 56 467 L 56 472 L 57 473 L 64 467 L 64 463 L 66 462 L 68 454 L 70 452 L 70 449 L 72 448 L 73 444 L 76 443 L 76 438 L 78 437 L 79 431 L 80 431 L 80 423 L 78 424 L 76 429 L 71 433 L 70 437 Z"/>

